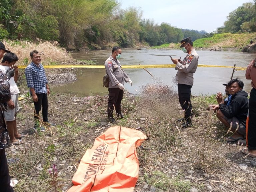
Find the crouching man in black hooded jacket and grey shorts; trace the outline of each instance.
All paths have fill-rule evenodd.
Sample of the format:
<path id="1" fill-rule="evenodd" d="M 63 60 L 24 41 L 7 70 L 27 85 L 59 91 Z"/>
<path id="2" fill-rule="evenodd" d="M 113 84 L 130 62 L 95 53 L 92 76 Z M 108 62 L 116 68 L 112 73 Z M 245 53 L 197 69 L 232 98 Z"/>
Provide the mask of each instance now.
<path id="1" fill-rule="evenodd" d="M 217 112 L 218 119 L 234 134 L 227 138 L 227 142 L 237 142 L 239 139 L 244 140 L 246 136 L 246 118 L 248 113 L 248 94 L 243 91 L 244 83 L 239 78 L 232 79 L 228 83 L 228 91 L 231 95 L 229 105 L 224 103 L 222 94 L 217 93 L 216 99 L 219 105 L 211 105 L 212 109 Z M 237 129 L 238 126 L 238 129 Z M 236 130 L 237 129 L 237 130 Z"/>

